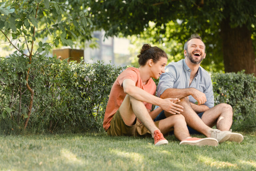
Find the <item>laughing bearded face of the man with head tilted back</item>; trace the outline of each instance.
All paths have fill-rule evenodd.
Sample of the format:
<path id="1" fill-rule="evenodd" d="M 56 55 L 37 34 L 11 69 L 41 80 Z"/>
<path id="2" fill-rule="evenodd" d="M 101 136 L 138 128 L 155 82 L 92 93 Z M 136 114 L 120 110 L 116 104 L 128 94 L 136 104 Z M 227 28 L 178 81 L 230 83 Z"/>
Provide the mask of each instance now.
<path id="1" fill-rule="evenodd" d="M 188 41 L 188 50 L 184 53 L 192 63 L 200 64 L 205 58 L 204 43 L 200 39 L 191 39 Z"/>

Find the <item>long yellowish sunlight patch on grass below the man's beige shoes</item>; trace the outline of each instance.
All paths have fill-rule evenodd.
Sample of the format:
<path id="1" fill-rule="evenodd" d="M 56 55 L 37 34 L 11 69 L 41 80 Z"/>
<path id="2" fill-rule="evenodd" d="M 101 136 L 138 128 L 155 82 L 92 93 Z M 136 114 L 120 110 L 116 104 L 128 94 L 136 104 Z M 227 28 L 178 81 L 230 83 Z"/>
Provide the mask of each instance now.
<path id="1" fill-rule="evenodd" d="M 211 157 L 206 157 L 206 156 L 202 156 L 199 155 L 198 156 L 198 161 L 204 163 L 205 165 L 209 165 L 211 167 L 216 167 L 218 168 L 237 168 L 237 164 L 232 164 L 229 162 L 224 162 L 224 161 L 218 161 L 215 160 Z"/>

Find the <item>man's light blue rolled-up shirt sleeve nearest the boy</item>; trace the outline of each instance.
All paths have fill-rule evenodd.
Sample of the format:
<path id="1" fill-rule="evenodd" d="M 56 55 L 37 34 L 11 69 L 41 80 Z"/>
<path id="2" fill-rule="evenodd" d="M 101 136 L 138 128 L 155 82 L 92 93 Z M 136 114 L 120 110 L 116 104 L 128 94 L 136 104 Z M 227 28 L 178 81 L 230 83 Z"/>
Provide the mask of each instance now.
<path id="1" fill-rule="evenodd" d="M 163 92 L 168 89 L 168 88 L 173 88 L 173 84 L 174 82 L 176 81 L 176 72 L 173 72 L 175 71 L 175 66 L 174 65 L 167 65 L 165 67 L 165 73 L 163 73 L 161 76 L 160 76 L 160 79 L 159 79 L 159 83 L 158 83 L 158 86 L 157 86 L 157 97 L 160 97 L 161 94 L 163 94 Z"/>

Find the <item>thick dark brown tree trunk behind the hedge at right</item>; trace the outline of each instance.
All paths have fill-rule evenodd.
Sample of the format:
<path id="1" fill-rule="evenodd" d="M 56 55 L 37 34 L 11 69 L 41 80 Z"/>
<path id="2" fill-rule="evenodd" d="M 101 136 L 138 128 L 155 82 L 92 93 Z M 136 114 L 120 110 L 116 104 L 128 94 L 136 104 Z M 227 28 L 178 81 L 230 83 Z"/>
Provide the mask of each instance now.
<path id="1" fill-rule="evenodd" d="M 255 54 L 250 30 L 245 25 L 231 28 L 229 20 L 223 20 L 221 37 L 225 72 L 245 70 L 247 74 L 256 74 Z"/>

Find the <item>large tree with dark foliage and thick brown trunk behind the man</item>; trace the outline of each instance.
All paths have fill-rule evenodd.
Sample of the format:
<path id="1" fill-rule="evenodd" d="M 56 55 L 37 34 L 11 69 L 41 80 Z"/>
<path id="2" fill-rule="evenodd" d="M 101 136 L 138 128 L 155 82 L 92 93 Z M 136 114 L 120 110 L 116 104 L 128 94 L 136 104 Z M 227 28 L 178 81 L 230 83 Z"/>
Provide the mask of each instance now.
<path id="1" fill-rule="evenodd" d="M 206 51 L 218 60 L 223 57 L 225 71 L 256 73 L 254 0 L 91 0 L 88 6 L 93 23 L 106 36 L 141 34 L 152 21 L 158 31 L 149 36 L 156 41 L 183 44 L 191 33 L 199 33 Z M 169 29 L 170 22 L 176 27 Z"/>

